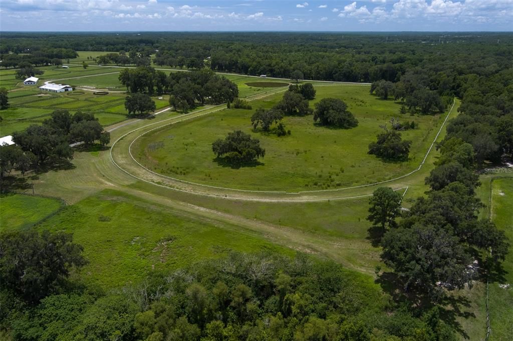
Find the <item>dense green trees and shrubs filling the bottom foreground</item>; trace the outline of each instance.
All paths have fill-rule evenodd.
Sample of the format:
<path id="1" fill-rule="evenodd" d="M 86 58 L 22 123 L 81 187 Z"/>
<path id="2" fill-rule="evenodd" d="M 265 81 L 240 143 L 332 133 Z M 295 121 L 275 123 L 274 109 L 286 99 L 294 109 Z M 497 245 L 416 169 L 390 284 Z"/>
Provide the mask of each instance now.
<path id="1" fill-rule="evenodd" d="M 14 340 L 456 340 L 438 308 L 387 302 L 366 278 L 304 254 L 229 252 L 140 284 L 81 284 L 63 233 L 0 234 L 0 335 Z M 73 278 L 70 273 L 75 273 Z"/>

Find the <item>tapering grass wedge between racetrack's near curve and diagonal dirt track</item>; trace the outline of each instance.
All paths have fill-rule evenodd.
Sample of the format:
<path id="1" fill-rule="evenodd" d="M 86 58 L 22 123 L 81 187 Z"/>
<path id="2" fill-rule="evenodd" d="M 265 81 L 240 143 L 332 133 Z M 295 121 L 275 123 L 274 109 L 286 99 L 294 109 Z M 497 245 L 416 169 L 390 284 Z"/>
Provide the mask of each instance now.
<path id="1" fill-rule="evenodd" d="M 144 182 L 130 188 L 258 222 L 277 244 L 336 260 L 347 268 L 373 274 L 381 248 L 369 239 L 368 198 L 312 203 L 232 201 L 187 195 Z M 268 226 L 273 229 L 267 230 Z M 276 235 L 275 235 L 276 234 Z"/>

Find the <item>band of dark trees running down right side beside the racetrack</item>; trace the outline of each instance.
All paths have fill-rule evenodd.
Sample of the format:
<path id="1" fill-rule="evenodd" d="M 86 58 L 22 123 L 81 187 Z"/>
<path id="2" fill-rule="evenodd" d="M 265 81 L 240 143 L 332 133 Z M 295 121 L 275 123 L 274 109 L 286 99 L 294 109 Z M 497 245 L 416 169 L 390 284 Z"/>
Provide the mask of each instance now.
<path id="1" fill-rule="evenodd" d="M 437 144 L 440 157 L 425 179 L 430 190 L 410 210 L 401 213 L 401 195 L 390 188 L 378 188 L 370 199 L 368 219 L 382 229 L 382 259 L 407 292 L 440 302 L 447 291 L 500 271 L 510 241 L 494 223 L 478 219 L 484 205 L 476 188 L 484 161 L 511 157 L 511 80 L 508 72 L 469 77 L 460 115 Z"/>

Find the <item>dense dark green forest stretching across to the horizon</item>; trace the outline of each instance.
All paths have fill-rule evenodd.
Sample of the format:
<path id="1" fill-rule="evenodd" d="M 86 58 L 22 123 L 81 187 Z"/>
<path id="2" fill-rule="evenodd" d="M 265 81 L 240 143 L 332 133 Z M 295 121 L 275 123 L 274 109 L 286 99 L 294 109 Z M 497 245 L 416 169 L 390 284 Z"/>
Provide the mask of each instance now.
<path id="1" fill-rule="evenodd" d="M 513 59 L 513 40 L 506 33 L 4 33 L 2 40 L 2 60 L 8 53 L 49 49 L 133 51 L 155 54 L 160 66 L 207 63 L 214 71 L 274 77 L 299 70 L 305 79 L 364 82 L 397 81 L 407 70 L 419 69 L 432 90 L 443 82 L 453 91 L 458 76 L 489 76 L 510 67 Z"/>

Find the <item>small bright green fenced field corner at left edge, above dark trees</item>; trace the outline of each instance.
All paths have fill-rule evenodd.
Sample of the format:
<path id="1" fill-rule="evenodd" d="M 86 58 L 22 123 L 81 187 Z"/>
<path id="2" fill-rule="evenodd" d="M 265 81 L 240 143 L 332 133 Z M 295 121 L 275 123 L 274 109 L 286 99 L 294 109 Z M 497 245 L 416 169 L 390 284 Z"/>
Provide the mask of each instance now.
<path id="1" fill-rule="evenodd" d="M 0 197 L 0 231 L 24 229 L 59 209 L 59 200 L 21 194 Z"/>

